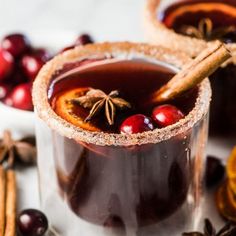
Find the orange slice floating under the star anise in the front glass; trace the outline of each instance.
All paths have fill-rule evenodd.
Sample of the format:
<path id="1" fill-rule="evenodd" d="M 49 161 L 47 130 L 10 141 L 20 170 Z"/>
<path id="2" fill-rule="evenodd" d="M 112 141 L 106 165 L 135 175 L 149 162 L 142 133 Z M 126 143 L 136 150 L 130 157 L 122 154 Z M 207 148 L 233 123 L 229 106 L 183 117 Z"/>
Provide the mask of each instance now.
<path id="1" fill-rule="evenodd" d="M 83 96 L 88 90 L 89 88 L 76 88 L 65 91 L 55 98 L 52 106 L 54 111 L 69 123 L 88 131 L 100 131 L 98 127 L 90 122 L 84 122 L 88 111 L 70 102 L 74 98 Z"/>

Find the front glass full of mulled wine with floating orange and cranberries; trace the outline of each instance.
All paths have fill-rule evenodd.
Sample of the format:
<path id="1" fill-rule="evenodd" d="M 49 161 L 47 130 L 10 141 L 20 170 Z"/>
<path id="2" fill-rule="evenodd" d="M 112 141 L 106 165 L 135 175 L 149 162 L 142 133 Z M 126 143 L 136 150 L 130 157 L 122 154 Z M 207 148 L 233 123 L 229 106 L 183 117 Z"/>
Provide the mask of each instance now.
<path id="1" fill-rule="evenodd" d="M 145 101 L 174 76 L 176 55 L 170 55 L 174 61 L 171 65 L 162 58 L 163 49 L 160 54 L 158 49 L 153 50 L 155 56 L 150 53 L 152 47 L 148 52 L 142 49 L 142 55 L 140 51 L 133 55 L 122 45 L 117 46 L 122 56 L 109 55 L 104 48 L 102 56 L 69 57 L 54 71 L 41 74 L 46 75 L 47 79 L 41 79 L 46 79 L 47 85 L 44 98 L 39 96 L 38 101 L 45 101 L 48 115 L 56 118 L 46 121 L 49 127 L 54 126 L 52 130 L 41 121 L 37 123 L 42 205 L 62 235 L 178 235 L 183 228 L 192 227 L 190 216 L 196 214 L 200 203 L 209 84 L 205 81 L 170 104 L 154 109 L 154 104 L 146 105 Z M 137 45 L 130 46 L 135 50 Z M 96 49 L 96 45 L 89 47 Z M 113 44 L 109 47 L 112 49 Z M 44 84 L 41 80 L 37 85 L 37 81 L 40 75 L 34 87 L 36 100 Z M 124 110 L 115 107 L 113 124 L 107 119 L 106 106 L 86 120 L 93 100 L 83 100 L 85 107 L 78 104 L 78 98 L 87 98 L 88 91 L 94 89 L 106 98 L 111 91 L 119 91 L 115 101 L 129 103 Z M 113 95 L 112 99 L 117 98 Z M 99 102 L 97 98 L 93 97 Z M 112 99 L 109 102 L 114 102 Z M 206 106 L 202 107 L 203 103 Z M 42 118 L 46 110 L 40 105 L 38 108 Z M 153 109 L 155 115 L 175 112 L 179 119 L 160 127 Z M 133 133 L 126 133 L 128 124 L 133 125 Z M 134 132 L 136 129 L 138 132 Z M 48 132 L 50 139 L 45 140 L 42 134 Z M 52 146 L 42 151 L 48 142 Z M 50 156 L 47 161 L 45 154 Z M 58 216 L 55 209 L 60 209 Z M 165 224 L 171 226 L 166 229 Z"/>

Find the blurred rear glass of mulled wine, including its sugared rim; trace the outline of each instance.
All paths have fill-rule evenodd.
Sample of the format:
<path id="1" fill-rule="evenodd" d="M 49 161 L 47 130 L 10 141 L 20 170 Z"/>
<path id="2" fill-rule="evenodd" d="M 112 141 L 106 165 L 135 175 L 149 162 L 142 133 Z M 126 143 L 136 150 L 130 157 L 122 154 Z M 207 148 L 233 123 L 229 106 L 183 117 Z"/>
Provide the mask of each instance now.
<path id="1" fill-rule="evenodd" d="M 225 42 L 233 59 L 210 76 L 210 134 L 236 131 L 236 3 L 234 0 L 147 0 L 145 33 L 149 42 L 196 57 L 214 40 Z M 219 114 L 224 114 L 220 116 Z"/>

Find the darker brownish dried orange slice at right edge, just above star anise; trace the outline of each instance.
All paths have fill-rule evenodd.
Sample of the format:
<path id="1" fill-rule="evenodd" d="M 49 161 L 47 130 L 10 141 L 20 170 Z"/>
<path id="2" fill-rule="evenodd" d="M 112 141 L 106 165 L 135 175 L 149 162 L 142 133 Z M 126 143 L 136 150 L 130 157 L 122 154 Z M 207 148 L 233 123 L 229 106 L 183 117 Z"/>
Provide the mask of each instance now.
<path id="1" fill-rule="evenodd" d="M 236 202 L 234 196 L 229 197 L 228 181 L 225 181 L 216 192 L 216 206 L 219 213 L 227 220 L 236 222 Z"/>

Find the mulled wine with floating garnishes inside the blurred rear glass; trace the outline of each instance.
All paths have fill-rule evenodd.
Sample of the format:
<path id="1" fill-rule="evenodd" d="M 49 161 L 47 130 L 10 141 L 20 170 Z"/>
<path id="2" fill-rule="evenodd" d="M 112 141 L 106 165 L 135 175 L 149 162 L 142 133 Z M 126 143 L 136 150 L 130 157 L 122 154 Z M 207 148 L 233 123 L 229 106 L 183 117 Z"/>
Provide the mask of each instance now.
<path id="1" fill-rule="evenodd" d="M 158 12 L 158 19 L 177 34 L 190 38 L 206 41 L 219 39 L 229 44 L 236 43 L 236 3 L 234 0 L 174 1 Z M 230 63 L 210 76 L 213 90 L 210 115 L 212 134 L 235 134 L 235 75 L 236 66 Z"/>

